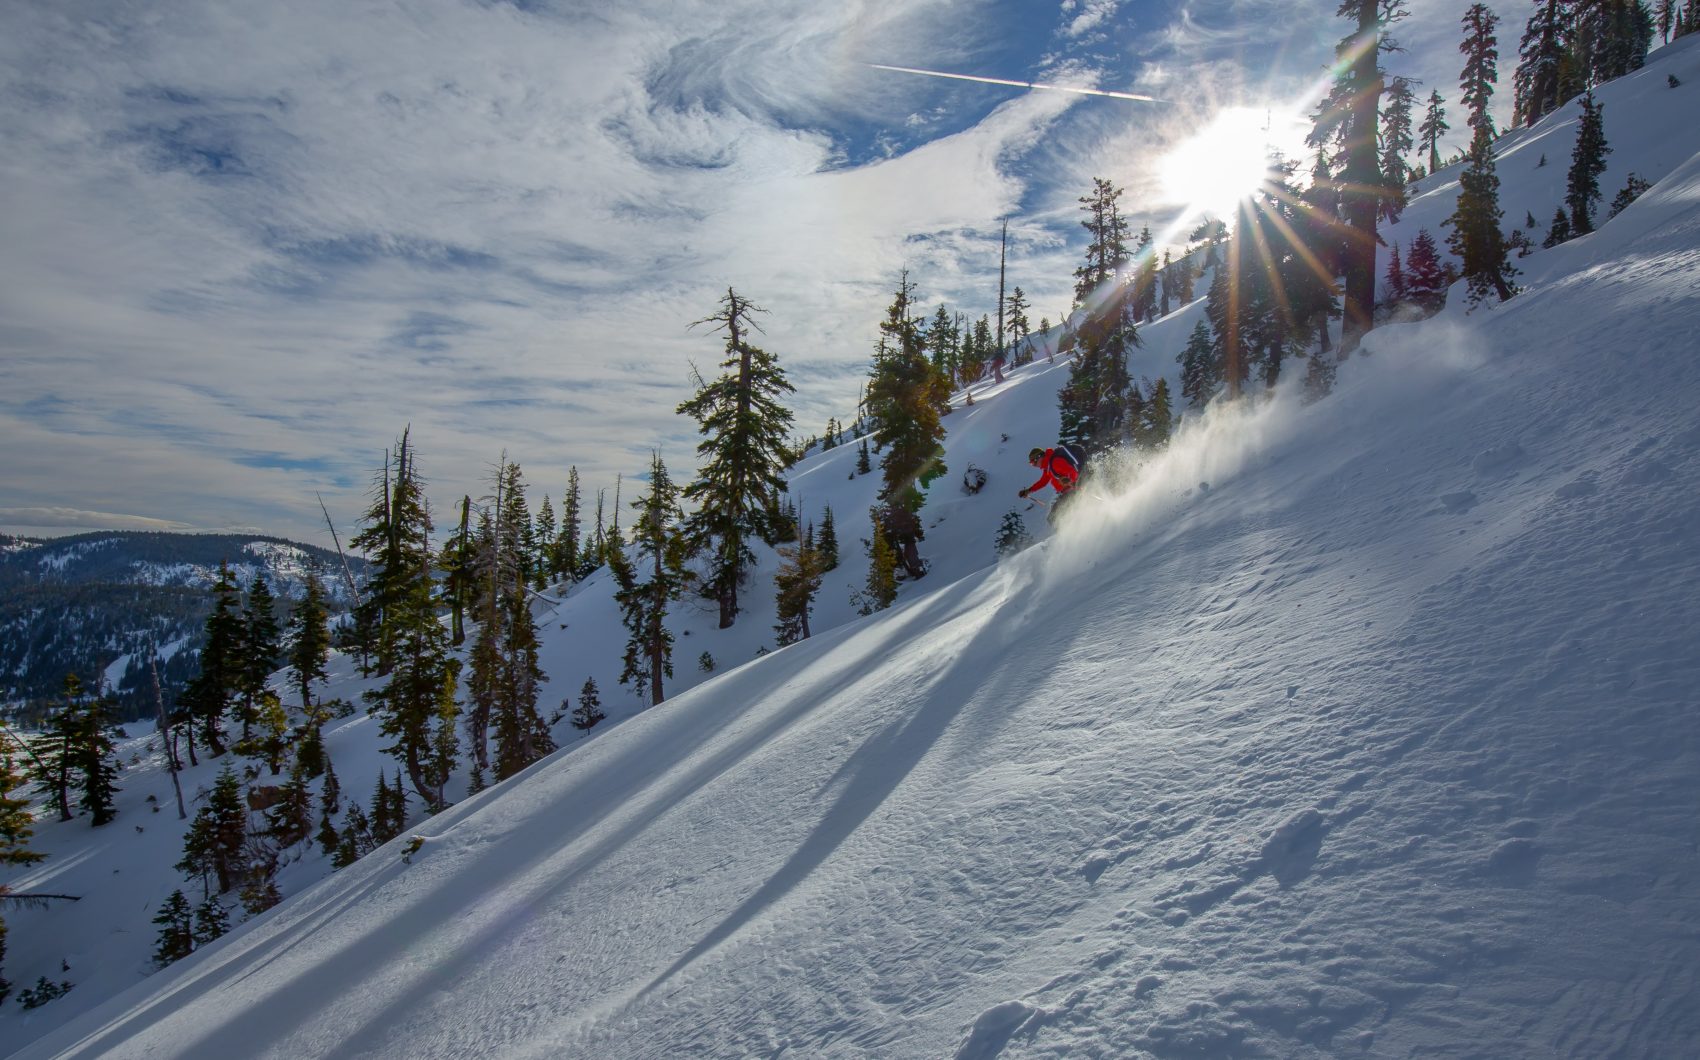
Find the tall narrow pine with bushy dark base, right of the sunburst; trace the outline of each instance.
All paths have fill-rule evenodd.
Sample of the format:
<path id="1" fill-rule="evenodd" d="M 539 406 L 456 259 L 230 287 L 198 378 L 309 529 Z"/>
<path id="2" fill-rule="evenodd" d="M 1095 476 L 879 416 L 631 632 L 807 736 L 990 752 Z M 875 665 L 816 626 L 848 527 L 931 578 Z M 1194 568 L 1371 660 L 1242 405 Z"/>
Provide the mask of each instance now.
<path id="1" fill-rule="evenodd" d="M 1469 166 L 1459 177 L 1459 200 L 1447 224 L 1452 234 L 1447 246 L 1459 257 L 1464 279 L 1469 282 L 1470 302 L 1488 297 L 1489 290 L 1506 301 L 1513 294 L 1511 277 L 1516 268 L 1510 262 L 1510 246 L 1499 231 L 1499 177 L 1493 163 L 1493 117 L 1488 104 L 1493 99 L 1494 70 L 1499 56 L 1494 37 L 1498 17 L 1486 5 L 1476 3 L 1464 14 L 1464 102 L 1470 107 Z"/>

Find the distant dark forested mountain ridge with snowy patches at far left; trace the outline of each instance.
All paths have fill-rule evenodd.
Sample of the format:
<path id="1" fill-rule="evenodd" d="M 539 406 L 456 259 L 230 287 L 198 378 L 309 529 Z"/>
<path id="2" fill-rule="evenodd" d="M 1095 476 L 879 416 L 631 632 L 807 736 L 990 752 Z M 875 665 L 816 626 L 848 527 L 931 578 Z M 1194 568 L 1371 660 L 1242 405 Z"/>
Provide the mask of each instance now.
<path id="1" fill-rule="evenodd" d="M 122 715 L 151 715 L 148 647 L 163 659 L 172 702 L 194 674 L 219 564 L 243 588 L 265 578 L 279 601 L 299 600 L 316 571 L 335 610 L 350 603 L 335 550 L 280 537 L 107 530 L 0 538 L 0 700 L 37 703 L 75 673 L 88 688 L 112 688 Z M 348 566 L 359 578 L 366 564 Z"/>

